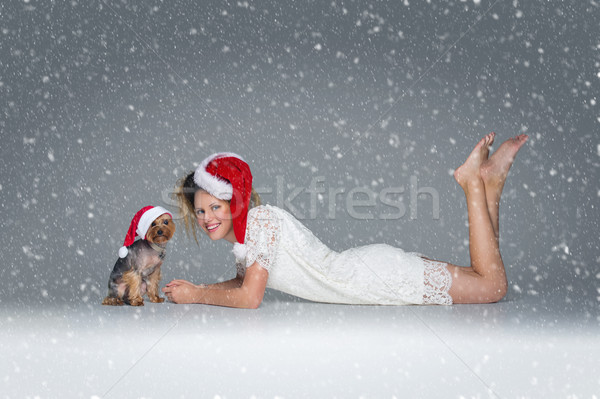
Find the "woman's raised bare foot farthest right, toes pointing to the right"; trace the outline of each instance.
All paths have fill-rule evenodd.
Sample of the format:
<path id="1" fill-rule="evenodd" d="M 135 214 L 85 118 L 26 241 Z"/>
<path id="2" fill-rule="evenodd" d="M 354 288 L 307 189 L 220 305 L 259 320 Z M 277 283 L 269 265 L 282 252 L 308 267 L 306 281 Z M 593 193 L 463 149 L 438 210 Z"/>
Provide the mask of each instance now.
<path id="1" fill-rule="evenodd" d="M 494 151 L 489 159 L 481 163 L 480 174 L 488 195 L 494 191 L 500 197 L 502 188 L 506 182 L 506 176 L 508 176 L 508 171 L 515 160 L 515 156 L 528 138 L 529 136 L 520 134 L 506 140 Z"/>

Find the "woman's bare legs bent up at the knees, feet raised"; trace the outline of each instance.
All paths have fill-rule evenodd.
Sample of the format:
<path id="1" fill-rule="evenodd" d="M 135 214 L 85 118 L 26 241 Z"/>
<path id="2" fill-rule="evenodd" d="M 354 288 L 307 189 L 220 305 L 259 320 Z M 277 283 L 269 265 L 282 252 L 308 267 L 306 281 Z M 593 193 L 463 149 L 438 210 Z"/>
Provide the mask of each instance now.
<path id="1" fill-rule="evenodd" d="M 504 149 L 499 149 L 497 156 L 489 159 L 484 168 L 488 181 L 487 190 L 481 166 L 488 160 L 489 146 L 494 140 L 494 134 L 485 136 L 454 173 L 467 200 L 471 254 L 471 267 L 448 265 L 448 270 L 452 273 L 449 294 L 454 303 L 497 302 L 506 295 L 506 273 L 497 235 L 498 204 L 510 164 L 526 139 L 526 136 L 511 139 L 517 140 L 520 145 L 515 147 L 513 144 L 503 144 L 501 148 Z M 507 151 L 509 148 L 512 150 Z M 503 179 L 499 176 L 503 176 Z M 490 195 L 490 200 L 486 194 Z M 490 205 L 491 209 L 488 210 Z M 495 223 L 492 222 L 492 217 L 495 218 Z"/>

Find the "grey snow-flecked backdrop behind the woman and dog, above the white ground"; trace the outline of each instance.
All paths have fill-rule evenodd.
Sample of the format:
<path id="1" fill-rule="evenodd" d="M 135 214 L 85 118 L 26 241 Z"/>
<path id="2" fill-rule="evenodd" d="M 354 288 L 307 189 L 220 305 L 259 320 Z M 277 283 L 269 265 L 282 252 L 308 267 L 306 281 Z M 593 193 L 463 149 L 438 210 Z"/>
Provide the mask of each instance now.
<path id="1" fill-rule="evenodd" d="M 379 203 L 359 220 L 343 196 L 330 218 L 327 194 L 314 218 L 306 192 L 293 205 L 335 250 L 384 242 L 467 265 L 451 172 L 495 131 L 530 135 L 501 204 L 507 300 L 597 321 L 598 3 L 409 3 L 2 2 L 0 303 L 95 307 L 133 214 L 174 209 L 175 181 L 217 151 L 245 157 L 280 206 L 317 176 L 346 193 L 416 176 L 439 219 L 428 195 L 415 219 L 382 220 Z M 163 283 L 231 278 L 233 261 L 180 225 Z"/>

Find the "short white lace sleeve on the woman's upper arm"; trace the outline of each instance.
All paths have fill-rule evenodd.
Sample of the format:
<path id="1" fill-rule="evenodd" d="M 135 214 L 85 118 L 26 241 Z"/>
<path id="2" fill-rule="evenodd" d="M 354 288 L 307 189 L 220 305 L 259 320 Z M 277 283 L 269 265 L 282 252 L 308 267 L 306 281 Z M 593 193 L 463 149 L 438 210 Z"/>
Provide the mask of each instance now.
<path id="1" fill-rule="evenodd" d="M 264 206 L 252 208 L 246 225 L 246 267 L 258 262 L 270 270 L 275 263 L 281 228 L 277 215 Z"/>

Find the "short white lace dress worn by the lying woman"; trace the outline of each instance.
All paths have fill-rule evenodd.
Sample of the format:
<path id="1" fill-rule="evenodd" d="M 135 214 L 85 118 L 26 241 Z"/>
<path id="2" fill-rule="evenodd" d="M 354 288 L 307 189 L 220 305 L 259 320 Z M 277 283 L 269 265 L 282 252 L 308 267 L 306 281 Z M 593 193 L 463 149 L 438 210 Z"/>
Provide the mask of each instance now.
<path id="1" fill-rule="evenodd" d="M 315 302 L 452 304 L 445 263 L 386 244 L 335 252 L 287 211 L 250 209 L 244 242 L 234 249 L 239 273 L 254 262 L 267 269 L 267 287 Z"/>

